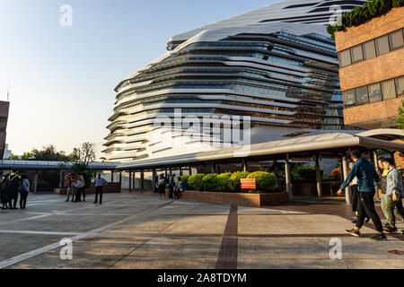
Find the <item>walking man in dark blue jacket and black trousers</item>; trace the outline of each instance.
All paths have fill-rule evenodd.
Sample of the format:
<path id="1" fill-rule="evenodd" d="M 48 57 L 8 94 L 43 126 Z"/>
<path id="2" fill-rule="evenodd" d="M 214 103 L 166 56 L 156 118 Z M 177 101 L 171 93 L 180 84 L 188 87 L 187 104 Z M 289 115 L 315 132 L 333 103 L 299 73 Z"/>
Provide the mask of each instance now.
<path id="1" fill-rule="evenodd" d="M 352 166 L 351 172 L 349 172 L 347 179 L 339 187 L 338 195 L 342 193 L 342 190 L 347 188 L 350 182 L 356 177 L 357 178 L 357 190 L 358 190 L 358 214 L 356 219 L 356 226 L 352 230 L 346 230 L 350 235 L 359 237 L 360 229 L 364 225 L 365 214 L 372 218 L 375 229 L 378 234 L 372 239 L 374 240 L 384 240 L 387 239 L 383 232 L 382 221 L 376 212 L 374 207 L 374 184 L 379 182 L 379 175 L 376 170 L 374 170 L 373 164 L 361 157 L 361 152 L 354 150 L 351 152 L 351 159 L 355 163 Z"/>

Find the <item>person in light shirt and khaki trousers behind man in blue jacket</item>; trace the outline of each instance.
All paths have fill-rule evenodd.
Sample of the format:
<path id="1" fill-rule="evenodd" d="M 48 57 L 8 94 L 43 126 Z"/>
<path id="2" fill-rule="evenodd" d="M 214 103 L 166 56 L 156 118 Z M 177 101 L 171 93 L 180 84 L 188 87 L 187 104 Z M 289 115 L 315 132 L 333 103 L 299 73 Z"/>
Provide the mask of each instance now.
<path id="1" fill-rule="evenodd" d="M 394 209 L 404 217 L 404 208 L 402 206 L 402 197 L 404 190 L 402 185 L 402 176 L 399 170 L 394 165 L 394 160 L 385 158 L 382 160 L 383 168 L 389 170 L 387 174 L 386 183 L 386 217 L 389 227 L 384 231 L 392 233 L 397 231 L 396 217 L 394 216 Z"/>

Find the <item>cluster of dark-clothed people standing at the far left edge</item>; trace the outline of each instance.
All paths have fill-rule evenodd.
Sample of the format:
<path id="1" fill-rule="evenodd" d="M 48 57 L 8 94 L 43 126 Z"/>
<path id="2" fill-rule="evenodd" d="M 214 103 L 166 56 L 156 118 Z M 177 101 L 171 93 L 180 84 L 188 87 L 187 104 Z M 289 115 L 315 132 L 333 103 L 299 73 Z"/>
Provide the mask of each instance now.
<path id="1" fill-rule="evenodd" d="M 2 209 L 18 209 L 18 195 L 20 195 L 20 208 L 25 209 L 27 197 L 30 193 L 30 181 L 26 175 L 18 170 L 11 173 L 0 174 L 0 198 Z"/>

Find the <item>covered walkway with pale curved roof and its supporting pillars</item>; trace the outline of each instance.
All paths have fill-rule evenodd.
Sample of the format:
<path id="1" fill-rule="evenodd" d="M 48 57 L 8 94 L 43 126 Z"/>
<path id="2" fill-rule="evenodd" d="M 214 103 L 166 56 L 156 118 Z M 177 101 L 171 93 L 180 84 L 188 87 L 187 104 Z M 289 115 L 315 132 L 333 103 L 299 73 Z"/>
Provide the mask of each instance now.
<path id="1" fill-rule="evenodd" d="M 153 172 L 153 186 L 156 170 L 189 170 L 191 174 L 192 167 L 210 166 L 212 173 L 216 172 L 216 165 L 241 163 L 242 169 L 247 170 L 249 162 L 268 162 L 274 164 L 282 161 L 285 162 L 285 186 L 290 198 L 292 194 L 292 179 L 290 170 L 290 161 L 294 159 L 311 159 L 315 161 L 316 181 L 318 196 L 322 196 L 321 190 L 321 169 L 320 161 L 322 158 L 338 159 L 343 172 L 343 178 L 347 178 L 347 153 L 352 148 L 362 148 L 369 152 L 368 159 L 373 161 L 376 170 L 377 152 L 404 152 L 404 143 L 397 142 L 404 137 L 404 132 L 397 129 L 376 129 L 365 132 L 342 133 L 329 132 L 319 135 L 300 135 L 281 141 L 268 143 L 257 143 L 248 146 L 225 148 L 211 152 L 196 152 L 189 154 L 165 157 L 162 159 L 150 159 L 134 161 L 130 163 L 120 164 L 118 170 L 129 170 L 129 178 L 132 172 L 140 172 L 140 191 L 144 190 L 144 174 L 145 171 Z M 277 175 L 276 175 L 277 176 Z M 131 182 L 132 180 L 130 180 Z M 348 188 L 346 190 L 346 201 L 350 204 Z M 131 188 L 129 188 L 131 189 Z"/>

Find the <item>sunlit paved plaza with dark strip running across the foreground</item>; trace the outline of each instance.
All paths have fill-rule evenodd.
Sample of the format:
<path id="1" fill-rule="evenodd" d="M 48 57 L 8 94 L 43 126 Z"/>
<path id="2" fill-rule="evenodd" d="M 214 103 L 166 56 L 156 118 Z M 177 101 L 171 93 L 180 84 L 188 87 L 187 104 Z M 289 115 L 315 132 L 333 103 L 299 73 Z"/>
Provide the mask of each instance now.
<path id="1" fill-rule="evenodd" d="M 403 268 L 401 233 L 357 239 L 349 206 L 303 203 L 251 208 L 139 194 L 105 195 L 104 204 L 30 195 L 27 209 L 0 211 L 1 268 Z M 381 213 L 380 213 L 381 214 Z M 403 222 L 398 222 L 404 228 Z M 73 241 L 62 260 L 60 240 Z M 330 259 L 330 239 L 342 259 Z"/>

